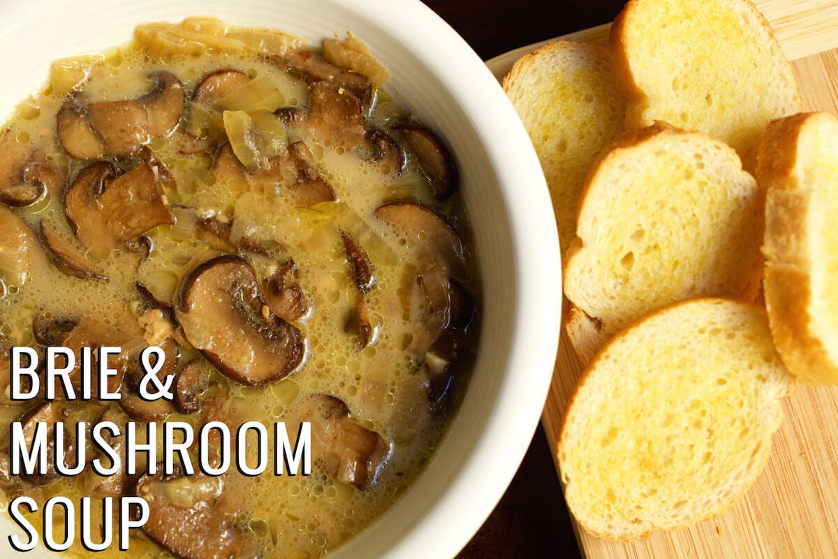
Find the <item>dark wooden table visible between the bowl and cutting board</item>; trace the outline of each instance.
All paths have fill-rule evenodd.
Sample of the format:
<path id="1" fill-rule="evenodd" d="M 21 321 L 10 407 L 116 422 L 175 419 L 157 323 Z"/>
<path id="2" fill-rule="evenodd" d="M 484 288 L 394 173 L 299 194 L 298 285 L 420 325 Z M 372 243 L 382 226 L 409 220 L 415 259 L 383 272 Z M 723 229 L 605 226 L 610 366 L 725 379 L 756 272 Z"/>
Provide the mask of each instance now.
<path id="1" fill-rule="evenodd" d="M 613 20 L 624 0 L 423 0 L 483 60 Z M 504 497 L 458 559 L 580 557 L 541 427 Z"/>

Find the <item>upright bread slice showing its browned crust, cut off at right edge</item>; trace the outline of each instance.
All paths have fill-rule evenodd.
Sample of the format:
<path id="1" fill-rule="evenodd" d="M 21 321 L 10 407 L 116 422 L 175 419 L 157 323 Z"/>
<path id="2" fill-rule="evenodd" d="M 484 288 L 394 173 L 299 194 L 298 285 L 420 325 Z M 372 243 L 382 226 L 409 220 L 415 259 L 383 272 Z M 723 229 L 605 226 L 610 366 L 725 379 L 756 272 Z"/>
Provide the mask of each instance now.
<path id="1" fill-rule="evenodd" d="M 838 385 L 838 121 L 772 122 L 759 151 L 765 301 L 774 342 L 798 380 Z"/>

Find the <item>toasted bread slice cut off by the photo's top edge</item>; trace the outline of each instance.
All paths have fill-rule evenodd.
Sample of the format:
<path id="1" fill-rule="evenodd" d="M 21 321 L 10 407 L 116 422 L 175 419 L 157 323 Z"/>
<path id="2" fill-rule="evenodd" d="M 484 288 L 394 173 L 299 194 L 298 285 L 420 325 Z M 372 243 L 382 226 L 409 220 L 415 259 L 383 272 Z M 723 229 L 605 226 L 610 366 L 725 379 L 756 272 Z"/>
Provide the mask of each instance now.
<path id="1" fill-rule="evenodd" d="M 707 132 L 751 172 L 768 122 L 800 111 L 791 65 L 749 0 L 631 0 L 610 49 L 629 129 L 663 120 Z"/>

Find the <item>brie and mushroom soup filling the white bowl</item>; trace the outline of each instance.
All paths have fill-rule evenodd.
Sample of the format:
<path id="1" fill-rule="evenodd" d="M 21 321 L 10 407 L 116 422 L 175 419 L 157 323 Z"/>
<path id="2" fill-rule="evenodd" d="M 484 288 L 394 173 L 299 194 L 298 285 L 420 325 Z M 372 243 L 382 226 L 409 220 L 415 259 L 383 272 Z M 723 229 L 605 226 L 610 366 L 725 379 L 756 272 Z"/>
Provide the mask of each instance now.
<path id="1" fill-rule="evenodd" d="M 132 556 L 195 559 L 322 556 L 398 499 L 467 383 L 479 288 L 451 155 L 387 77 L 351 34 L 312 49 L 211 18 L 142 25 L 130 45 L 53 64 L 0 137 L 0 412 L 27 444 L 39 423 L 65 433 L 43 475 L 10 475 L 13 434 L 0 434 L 7 499 L 40 511 L 89 496 L 101 520 L 104 497 L 137 495 L 148 517 Z M 10 386 L 20 346 L 42 365 L 25 401 L 9 397 L 26 390 Z M 69 386 L 53 399 L 54 347 L 75 359 L 55 365 Z M 173 378 L 171 400 L 143 396 L 149 364 L 159 386 Z M 72 397 L 91 377 L 93 397 Z M 94 444 L 101 422 L 120 428 Z M 176 442 L 216 468 L 247 422 L 284 425 L 290 448 L 309 425 L 311 474 L 187 475 L 183 457 L 149 472 L 173 443 L 167 423 L 191 427 Z M 199 437 L 210 424 L 234 440 Z M 154 451 L 128 471 L 127 437 L 150 432 Z M 252 434 L 236 458 L 251 465 L 264 451 Z M 121 467 L 101 474 L 96 458 Z"/>

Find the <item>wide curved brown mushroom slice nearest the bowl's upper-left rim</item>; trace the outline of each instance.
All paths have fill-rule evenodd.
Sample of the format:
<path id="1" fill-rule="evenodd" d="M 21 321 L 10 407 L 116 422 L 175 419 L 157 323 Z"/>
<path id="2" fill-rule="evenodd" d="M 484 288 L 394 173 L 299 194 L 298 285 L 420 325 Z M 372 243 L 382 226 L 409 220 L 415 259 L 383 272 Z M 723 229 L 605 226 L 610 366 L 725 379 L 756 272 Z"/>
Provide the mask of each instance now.
<path id="1" fill-rule="evenodd" d="M 122 156 L 171 132 L 184 111 L 184 86 L 165 71 L 149 78 L 152 90 L 134 100 L 91 103 L 81 92 L 69 96 L 57 116 L 61 146 L 77 159 Z"/>

